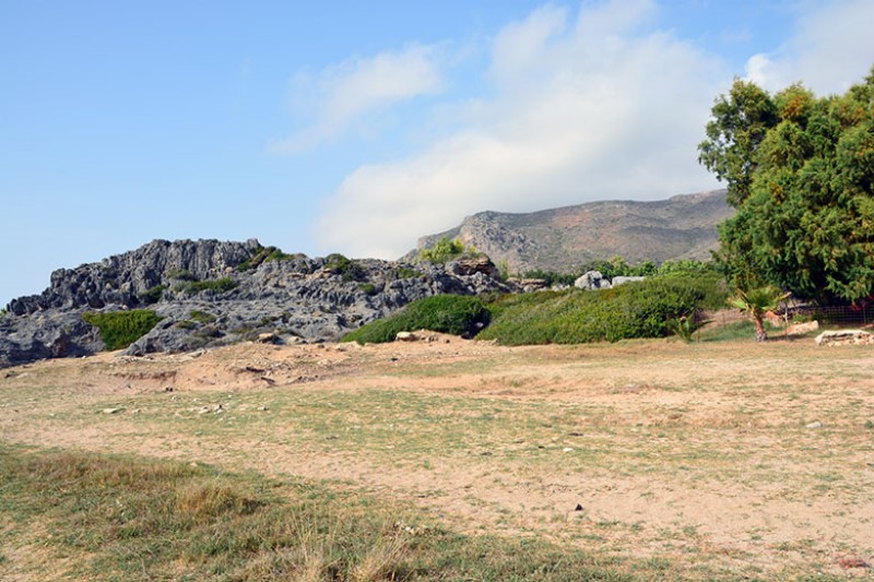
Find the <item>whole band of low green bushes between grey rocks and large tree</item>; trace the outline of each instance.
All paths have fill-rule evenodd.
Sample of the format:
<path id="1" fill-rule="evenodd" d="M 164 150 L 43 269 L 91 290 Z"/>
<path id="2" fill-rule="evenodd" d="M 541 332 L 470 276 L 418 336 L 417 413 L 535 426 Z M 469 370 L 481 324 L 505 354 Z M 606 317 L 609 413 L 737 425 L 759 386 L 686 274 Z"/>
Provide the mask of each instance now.
<path id="1" fill-rule="evenodd" d="M 389 318 L 368 323 L 343 341 L 391 342 L 398 332 L 427 329 L 475 334 L 505 345 L 615 342 L 663 337 L 669 320 L 698 309 L 719 309 L 728 292 L 716 274 L 653 277 L 601 292 L 568 289 L 480 297 L 438 295 L 414 301 Z"/>

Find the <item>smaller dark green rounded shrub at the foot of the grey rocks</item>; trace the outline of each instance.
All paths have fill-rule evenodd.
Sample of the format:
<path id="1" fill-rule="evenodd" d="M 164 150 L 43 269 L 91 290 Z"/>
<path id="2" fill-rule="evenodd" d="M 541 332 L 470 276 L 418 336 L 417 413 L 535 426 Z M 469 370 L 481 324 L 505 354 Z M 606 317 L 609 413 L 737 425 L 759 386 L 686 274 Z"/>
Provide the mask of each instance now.
<path id="1" fill-rule="evenodd" d="M 454 335 L 474 334 L 488 323 L 488 310 L 479 297 L 435 295 L 408 305 L 401 311 L 370 322 L 343 337 L 343 342 L 391 342 L 398 332 L 430 330 Z"/>

